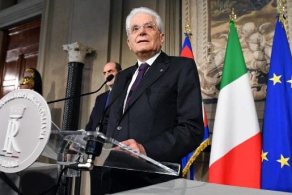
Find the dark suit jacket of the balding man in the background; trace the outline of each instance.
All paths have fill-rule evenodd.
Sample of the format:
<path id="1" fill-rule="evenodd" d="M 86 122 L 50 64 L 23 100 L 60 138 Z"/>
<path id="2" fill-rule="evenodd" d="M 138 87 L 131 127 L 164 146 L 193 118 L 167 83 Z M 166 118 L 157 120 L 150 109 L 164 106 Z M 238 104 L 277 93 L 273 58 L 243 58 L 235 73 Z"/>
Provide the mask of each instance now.
<path id="1" fill-rule="evenodd" d="M 110 90 L 96 97 L 95 104 L 91 111 L 89 121 L 85 127 L 86 131 L 95 131 L 97 124 L 102 117 L 102 113 L 104 111 L 109 93 L 110 93 Z"/>

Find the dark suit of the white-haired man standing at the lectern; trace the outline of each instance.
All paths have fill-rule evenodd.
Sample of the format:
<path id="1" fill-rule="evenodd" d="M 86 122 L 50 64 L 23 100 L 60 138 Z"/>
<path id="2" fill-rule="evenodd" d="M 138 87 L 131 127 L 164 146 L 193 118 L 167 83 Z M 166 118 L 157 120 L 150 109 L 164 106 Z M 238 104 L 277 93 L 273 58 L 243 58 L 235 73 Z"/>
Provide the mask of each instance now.
<path id="1" fill-rule="evenodd" d="M 142 144 L 147 156 L 181 163 L 203 138 L 201 89 L 194 60 L 163 52 L 147 70 L 123 113 L 128 85 L 138 65 L 117 74 L 110 98 L 107 136 Z M 112 169 L 110 193 L 174 178 L 160 174 Z"/>

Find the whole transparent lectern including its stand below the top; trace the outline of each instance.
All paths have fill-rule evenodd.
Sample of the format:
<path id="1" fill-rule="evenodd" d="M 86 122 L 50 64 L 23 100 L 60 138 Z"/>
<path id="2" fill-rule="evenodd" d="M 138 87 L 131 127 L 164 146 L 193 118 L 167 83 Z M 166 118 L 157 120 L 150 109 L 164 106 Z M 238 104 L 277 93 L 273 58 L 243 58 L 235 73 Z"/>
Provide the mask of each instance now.
<path id="1" fill-rule="evenodd" d="M 100 155 L 95 156 L 94 163 L 92 163 L 94 166 L 127 169 L 173 176 L 178 176 L 180 173 L 179 164 L 155 161 L 152 158 L 138 153 L 137 151 L 127 147 L 126 145 L 113 138 L 106 137 L 100 132 L 86 132 L 84 130 L 52 130 L 49 142 L 44 152 L 42 153 L 42 156 L 39 158 L 41 159 L 39 161 L 44 161 L 44 159 L 47 158 L 51 159 L 51 162 L 53 162 L 52 159 L 55 159 L 54 163 L 58 164 L 59 171 L 66 166 L 72 167 L 72 165 L 76 165 L 78 163 L 85 163 L 89 156 L 87 153 L 87 145 L 89 140 L 92 139 L 96 140 L 97 145 L 100 147 Z M 75 190 L 69 190 L 71 192 L 75 192 L 70 194 L 78 195 L 76 191 L 80 190 L 81 171 L 90 170 L 91 169 L 76 170 L 69 168 L 64 172 L 63 181 L 66 183 L 66 188 L 72 188 L 72 185 L 75 186 Z M 66 194 L 68 194 L 68 192 Z"/>

